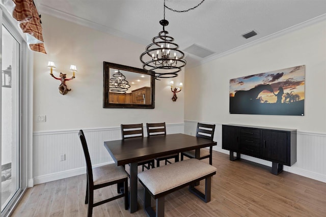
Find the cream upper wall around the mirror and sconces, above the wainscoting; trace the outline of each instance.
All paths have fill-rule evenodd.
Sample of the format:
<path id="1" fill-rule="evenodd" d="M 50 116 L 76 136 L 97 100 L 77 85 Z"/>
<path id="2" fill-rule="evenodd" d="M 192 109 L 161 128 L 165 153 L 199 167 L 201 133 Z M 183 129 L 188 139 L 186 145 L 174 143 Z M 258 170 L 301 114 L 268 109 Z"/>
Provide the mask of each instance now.
<path id="1" fill-rule="evenodd" d="M 155 109 L 104 109 L 103 61 L 141 68 L 139 55 L 145 45 L 135 44 L 97 30 L 42 15 L 45 48 L 48 54 L 34 55 L 34 132 L 116 127 L 121 123 L 165 121 L 183 122 L 183 92 L 172 102 L 170 79 L 156 81 Z M 150 37 L 149 37 L 150 40 Z M 60 81 L 46 68 L 56 64 L 53 74 L 69 72 L 76 65 L 76 78 L 67 81 L 72 90 L 59 94 Z M 175 79 L 183 81 L 183 72 Z M 36 115 L 46 115 L 46 122 L 36 122 Z"/>

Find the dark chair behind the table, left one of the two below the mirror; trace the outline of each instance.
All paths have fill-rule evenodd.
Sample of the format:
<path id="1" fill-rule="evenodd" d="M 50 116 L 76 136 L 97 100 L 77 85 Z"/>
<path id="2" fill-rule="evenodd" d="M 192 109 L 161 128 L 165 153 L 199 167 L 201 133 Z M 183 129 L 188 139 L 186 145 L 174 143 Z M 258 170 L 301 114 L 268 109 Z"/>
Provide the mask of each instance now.
<path id="1" fill-rule="evenodd" d="M 121 136 L 123 140 L 131 138 L 144 138 L 143 123 L 121 125 Z M 138 162 L 138 166 L 142 166 L 142 171 L 144 171 L 144 168 L 149 170 L 151 167 L 155 167 L 155 162 L 154 159 L 140 161 Z"/>

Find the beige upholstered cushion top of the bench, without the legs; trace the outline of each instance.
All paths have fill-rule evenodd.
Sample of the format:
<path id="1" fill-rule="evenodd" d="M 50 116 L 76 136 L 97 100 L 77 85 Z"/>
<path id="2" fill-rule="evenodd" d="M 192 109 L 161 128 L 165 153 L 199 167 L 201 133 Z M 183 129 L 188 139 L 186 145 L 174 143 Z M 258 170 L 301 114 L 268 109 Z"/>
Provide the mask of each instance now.
<path id="1" fill-rule="evenodd" d="M 216 168 L 198 159 L 189 159 L 138 174 L 147 189 L 157 195 L 215 172 Z"/>

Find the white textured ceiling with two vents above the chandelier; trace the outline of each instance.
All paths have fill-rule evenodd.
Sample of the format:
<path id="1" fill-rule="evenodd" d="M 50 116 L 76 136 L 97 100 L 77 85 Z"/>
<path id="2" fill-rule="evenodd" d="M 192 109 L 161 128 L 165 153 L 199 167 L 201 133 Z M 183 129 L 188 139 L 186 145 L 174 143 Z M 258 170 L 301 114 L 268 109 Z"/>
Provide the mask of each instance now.
<path id="1" fill-rule="evenodd" d="M 166 0 L 186 10 L 201 0 Z M 163 0 L 35 0 L 39 12 L 144 44 L 162 26 Z M 326 0 L 206 0 L 195 10 L 176 13 L 166 9 L 169 35 L 184 50 L 196 44 L 212 51 L 207 57 L 186 53 L 192 67 L 217 56 L 276 37 L 314 21 L 326 19 Z M 256 36 L 241 35 L 255 30 Z"/>

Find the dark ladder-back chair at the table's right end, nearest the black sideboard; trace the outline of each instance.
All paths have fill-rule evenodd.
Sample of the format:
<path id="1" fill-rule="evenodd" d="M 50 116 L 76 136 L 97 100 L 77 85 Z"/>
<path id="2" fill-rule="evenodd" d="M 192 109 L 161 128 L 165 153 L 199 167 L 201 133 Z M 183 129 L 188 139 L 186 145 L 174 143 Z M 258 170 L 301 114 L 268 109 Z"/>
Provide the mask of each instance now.
<path id="1" fill-rule="evenodd" d="M 209 139 L 213 141 L 214 137 L 214 131 L 215 131 L 215 125 L 208 125 L 206 123 L 197 123 L 197 130 L 196 130 L 196 137 Z M 209 164 L 212 165 L 212 147 L 209 147 L 209 150 L 207 148 L 201 148 L 200 149 L 200 160 L 209 158 Z M 183 157 L 187 158 L 195 158 L 195 150 L 190 151 L 184 151 L 181 152 L 181 161 L 183 161 Z"/>

